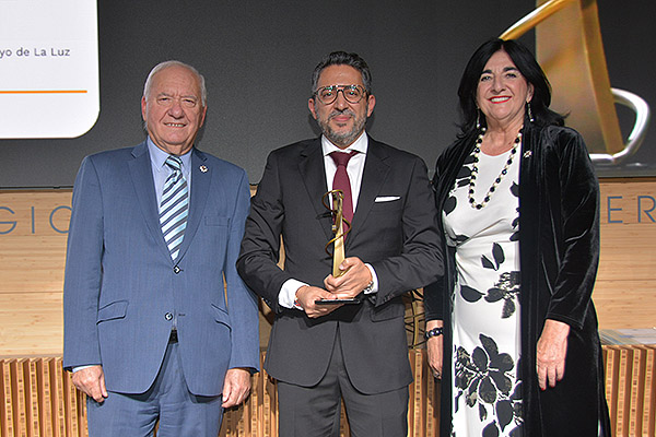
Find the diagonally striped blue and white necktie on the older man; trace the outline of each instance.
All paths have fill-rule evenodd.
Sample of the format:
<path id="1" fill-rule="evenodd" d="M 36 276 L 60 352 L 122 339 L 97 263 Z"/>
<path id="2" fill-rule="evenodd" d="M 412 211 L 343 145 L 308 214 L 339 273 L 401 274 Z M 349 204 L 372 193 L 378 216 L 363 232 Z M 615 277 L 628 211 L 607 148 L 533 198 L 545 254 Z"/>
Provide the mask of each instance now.
<path id="1" fill-rule="evenodd" d="M 179 157 L 169 155 L 166 165 L 173 169 L 164 182 L 162 202 L 160 203 L 160 224 L 162 234 L 168 246 L 171 258 L 175 260 L 180 250 L 187 215 L 189 212 L 189 191 L 187 180 L 183 175 L 183 162 Z"/>

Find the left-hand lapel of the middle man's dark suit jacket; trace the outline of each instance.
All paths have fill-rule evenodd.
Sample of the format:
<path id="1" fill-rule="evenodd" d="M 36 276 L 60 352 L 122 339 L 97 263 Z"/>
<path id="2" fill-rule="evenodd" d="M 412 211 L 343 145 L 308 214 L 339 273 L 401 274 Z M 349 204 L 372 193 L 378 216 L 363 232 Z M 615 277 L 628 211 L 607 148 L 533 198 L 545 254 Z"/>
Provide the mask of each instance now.
<path id="1" fill-rule="evenodd" d="M 330 212 L 321 202 L 321 198 L 328 191 L 328 188 L 326 186 L 326 168 L 320 139 L 313 140 L 301 151 L 298 172 L 309 197 L 309 202 L 314 206 L 316 218 L 326 233 L 326 241 L 328 241 L 332 238 L 332 218 Z"/>

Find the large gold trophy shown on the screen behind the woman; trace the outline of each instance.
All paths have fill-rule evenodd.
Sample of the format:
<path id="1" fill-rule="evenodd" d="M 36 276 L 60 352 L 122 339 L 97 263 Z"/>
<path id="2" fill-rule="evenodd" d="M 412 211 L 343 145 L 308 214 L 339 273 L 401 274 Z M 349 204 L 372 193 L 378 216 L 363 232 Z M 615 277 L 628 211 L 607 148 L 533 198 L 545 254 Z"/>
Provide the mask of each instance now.
<path id="1" fill-rule="evenodd" d="M 539 26 L 538 26 L 539 24 Z M 536 28 L 537 58 L 553 85 L 551 107 L 569 114 L 597 163 L 617 164 L 637 150 L 646 134 L 649 108 L 639 96 L 610 87 L 596 0 L 537 0 L 535 11 L 501 38 Z M 636 111 L 624 144 L 614 104 Z"/>

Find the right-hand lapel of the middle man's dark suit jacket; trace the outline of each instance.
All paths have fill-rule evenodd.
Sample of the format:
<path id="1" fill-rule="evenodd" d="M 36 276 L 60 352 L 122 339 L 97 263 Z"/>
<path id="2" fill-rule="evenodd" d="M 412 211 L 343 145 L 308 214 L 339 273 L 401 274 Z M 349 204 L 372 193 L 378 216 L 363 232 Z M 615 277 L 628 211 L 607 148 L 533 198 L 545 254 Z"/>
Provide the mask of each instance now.
<path id="1" fill-rule="evenodd" d="M 362 173 L 362 182 L 360 184 L 360 194 L 358 196 L 358 205 L 355 206 L 353 223 L 351 225 L 351 233 L 353 235 L 358 234 L 359 225 L 365 222 L 387 178 L 387 174 L 389 173 L 389 165 L 385 163 L 387 157 L 385 150 L 370 137 L 364 172 Z M 349 243 L 352 240 L 352 237 L 347 237 L 347 253 L 350 246 Z"/>

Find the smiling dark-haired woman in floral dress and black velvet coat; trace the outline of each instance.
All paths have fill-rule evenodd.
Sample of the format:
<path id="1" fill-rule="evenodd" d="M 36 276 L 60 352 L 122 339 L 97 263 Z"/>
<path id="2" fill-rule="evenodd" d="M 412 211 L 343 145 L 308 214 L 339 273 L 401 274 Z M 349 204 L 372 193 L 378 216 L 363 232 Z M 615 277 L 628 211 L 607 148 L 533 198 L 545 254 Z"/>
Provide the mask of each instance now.
<path id="1" fill-rule="evenodd" d="M 597 317 L 599 188 L 535 57 L 493 39 L 437 160 L 444 277 L 424 291 L 441 435 L 610 436 Z"/>

